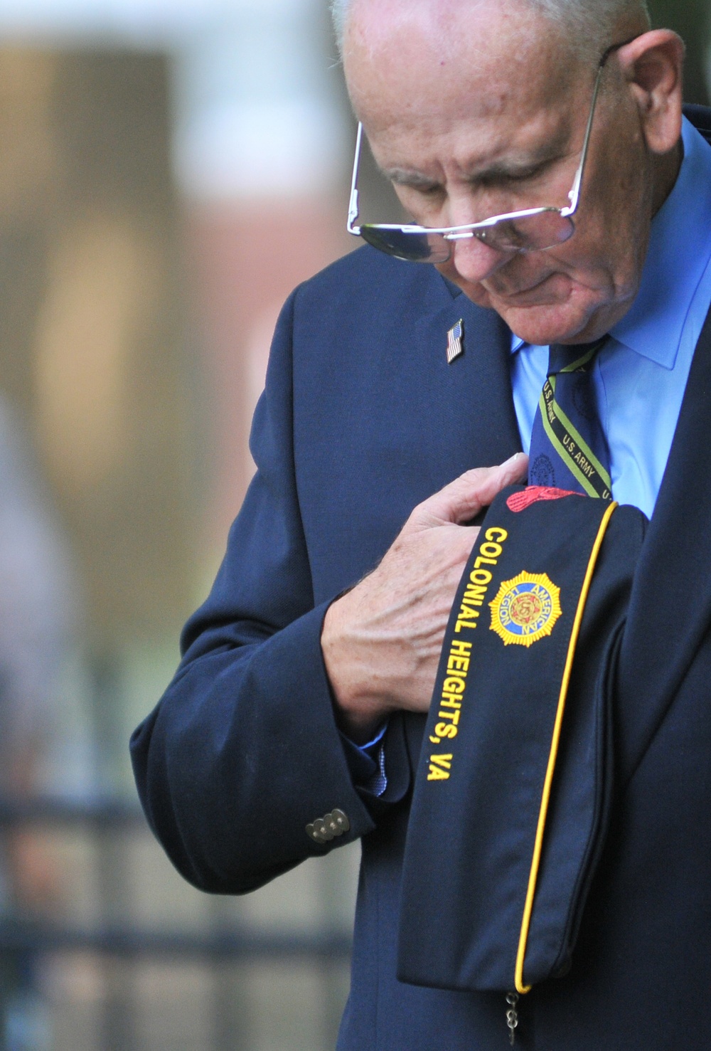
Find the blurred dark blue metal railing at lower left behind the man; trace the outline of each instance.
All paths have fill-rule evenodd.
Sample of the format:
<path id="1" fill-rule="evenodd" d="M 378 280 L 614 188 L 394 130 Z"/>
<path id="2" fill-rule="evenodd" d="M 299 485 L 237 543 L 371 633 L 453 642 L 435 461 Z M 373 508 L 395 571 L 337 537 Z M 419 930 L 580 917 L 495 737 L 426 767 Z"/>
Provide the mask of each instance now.
<path id="1" fill-rule="evenodd" d="M 105 975 L 104 1022 L 100 1051 L 140 1051 L 134 1031 L 135 1005 L 130 968 L 150 960 L 204 964 L 214 976 L 212 1047 L 214 1051 L 249 1051 L 247 1037 L 239 1031 L 230 1011 L 229 994 L 221 986 L 222 969 L 233 963 L 308 963 L 321 975 L 323 1003 L 332 1004 L 330 983 L 334 964 L 346 964 L 351 954 L 351 936 L 342 929 L 279 932 L 253 930 L 234 921 L 219 921 L 206 930 L 153 929 L 134 926 L 116 918 L 114 898 L 126 900 L 126 872 L 117 866 L 116 837 L 141 833 L 146 820 L 138 806 L 112 799 L 74 802 L 50 798 L 0 799 L 0 832 L 12 828 L 51 828 L 82 831 L 106 854 L 103 869 L 109 878 L 102 882 L 102 908 L 96 924 L 66 924 L 37 915 L 0 916 L 0 956 L 24 953 L 90 952 L 103 964 Z M 113 853 L 111 853 L 113 851 Z M 109 919 L 110 918 L 110 919 Z M 117 970 L 119 968 L 119 970 Z M 126 972 L 126 968 L 129 969 Z M 222 991 L 221 991 L 222 989 Z M 337 1006 L 337 997 L 336 1006 Z M 339 1011 L 325 1011 L 323 1047 L 333 1047 Z"/>

